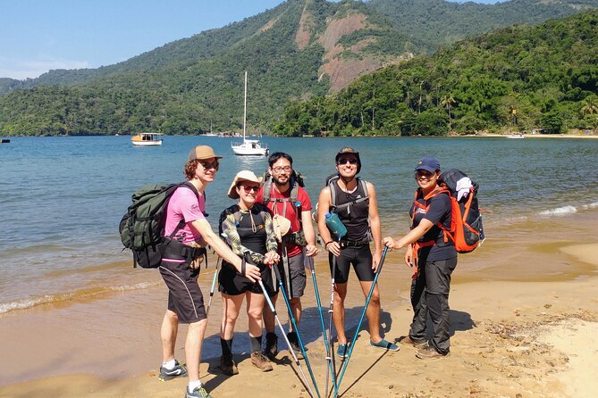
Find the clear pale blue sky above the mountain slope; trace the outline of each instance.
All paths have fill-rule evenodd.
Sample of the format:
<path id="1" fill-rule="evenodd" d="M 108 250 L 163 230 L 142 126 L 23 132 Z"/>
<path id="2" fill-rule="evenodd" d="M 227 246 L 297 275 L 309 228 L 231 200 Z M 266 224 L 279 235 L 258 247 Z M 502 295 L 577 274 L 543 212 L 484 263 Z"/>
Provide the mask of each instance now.
<path id="1" fill-rule="evenodd" d="M 453 0 L 451 0 L 453 1 Z M 0 78 L 112 65 L 282 0 L 0 0 Z M 477 0 L 494 4 L 497 0 Z"/>

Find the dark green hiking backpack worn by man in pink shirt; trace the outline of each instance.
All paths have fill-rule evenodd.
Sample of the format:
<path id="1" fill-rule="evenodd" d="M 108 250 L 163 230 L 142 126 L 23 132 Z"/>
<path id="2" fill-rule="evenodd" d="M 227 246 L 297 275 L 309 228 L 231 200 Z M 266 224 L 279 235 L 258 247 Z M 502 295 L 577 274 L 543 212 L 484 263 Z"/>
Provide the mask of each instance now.
<path id="1" fill-rule="evenodd" d="M 206 249 L 193 248 L 173 239 L 185 226 L 181 220 L 170 236 L 164 236 L 164 222 L 168 202 L 178 187 L 188 187 L 195 195 L 198 190 L 188 182 L 144 186 L 132 195 L 132 204 L 119 225 L 122 245 L 133 252 L 133 267 L 157 268 L 164 253 L 185 259 L 188 263 Z"/>

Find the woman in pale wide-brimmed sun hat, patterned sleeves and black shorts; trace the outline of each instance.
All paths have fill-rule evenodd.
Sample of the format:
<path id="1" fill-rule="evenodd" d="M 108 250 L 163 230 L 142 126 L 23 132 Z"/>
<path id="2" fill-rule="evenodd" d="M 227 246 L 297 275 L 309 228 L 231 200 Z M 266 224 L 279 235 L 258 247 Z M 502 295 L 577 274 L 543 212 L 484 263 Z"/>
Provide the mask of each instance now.
<path id="1" fill-rule="evenodd" d="M 280 256 L 277 253 L 278 245 L 270 212 L 262 204 L 256 203 L 259 183 L 259 178 L 251 171 L 242 170 L 237 173 L 228 195 L 232 199 L 238 198 L 239 202 L 223 211 L 220 226 L 232 252 L 244 256 L 249 263 L 259 267 L 267 293 L 273 295 L 275 288 L 271 267 L 280 260 Z M 223 319 L 220 328 L 220 344 L 223 350 L 220 368 L 223 373 L 231 376 L 239 373 L 232 361 L 232 336 L 244 298 L 247 298 L 251 363 L 262 371 L 272 370 L 270 361 L 261 350 L 262 311 L 265 303 L 261 286 L 240 275 L 237 269 L 226 261 L 223 261 L 218 283 L 218 290 L 223 297 Z"/>

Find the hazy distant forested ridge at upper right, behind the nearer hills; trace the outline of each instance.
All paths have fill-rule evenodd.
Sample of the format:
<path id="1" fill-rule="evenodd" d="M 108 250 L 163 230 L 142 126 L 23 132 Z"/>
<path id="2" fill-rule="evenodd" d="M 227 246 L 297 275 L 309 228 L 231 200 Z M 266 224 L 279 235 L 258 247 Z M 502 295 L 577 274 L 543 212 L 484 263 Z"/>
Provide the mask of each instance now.
<path id="1" fill-rule="evenodd" d="M 444 0 L 371 0 L 395 27 L 417 37 L 432 54 L 436 48 L 510 25 L 535 25 L 598 8 L 598 0 L 510 0 L 498 4 Z"/>

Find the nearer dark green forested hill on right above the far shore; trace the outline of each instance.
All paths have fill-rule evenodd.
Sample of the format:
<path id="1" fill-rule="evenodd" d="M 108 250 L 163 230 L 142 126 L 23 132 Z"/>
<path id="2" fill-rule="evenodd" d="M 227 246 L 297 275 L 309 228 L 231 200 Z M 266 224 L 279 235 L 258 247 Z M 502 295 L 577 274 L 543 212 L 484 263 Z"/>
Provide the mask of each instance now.
<path id="1" fill-rule="evenodd" d="M 282 135 L 598 129 L 598 11 L 511 27 L 288 104 Z"/>

